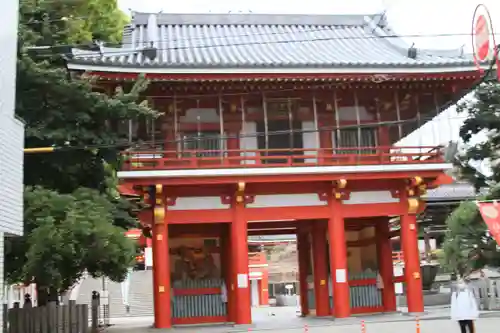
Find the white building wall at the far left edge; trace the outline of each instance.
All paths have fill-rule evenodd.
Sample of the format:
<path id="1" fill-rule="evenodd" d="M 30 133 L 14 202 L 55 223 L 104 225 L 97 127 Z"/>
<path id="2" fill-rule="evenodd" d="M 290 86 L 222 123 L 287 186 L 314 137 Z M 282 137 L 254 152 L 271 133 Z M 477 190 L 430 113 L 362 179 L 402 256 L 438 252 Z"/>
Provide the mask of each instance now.
<path id="1" fill-rule="evenodd" d="M 4 237 L 23 233 L 24 124 L 14 116 L 18 7 L 18 0 L 0 2 L 0 292 Z"/>

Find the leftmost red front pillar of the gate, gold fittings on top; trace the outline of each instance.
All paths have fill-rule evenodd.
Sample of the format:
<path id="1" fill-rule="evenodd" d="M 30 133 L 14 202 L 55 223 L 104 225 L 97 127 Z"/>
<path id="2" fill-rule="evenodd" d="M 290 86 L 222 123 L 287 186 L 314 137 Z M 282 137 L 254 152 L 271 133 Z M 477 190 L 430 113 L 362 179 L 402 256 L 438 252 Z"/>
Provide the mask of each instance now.
<path id="1" fill-rule="evenodd" d="M 153 225 L 153 297 L 155 328 L 171 328 L 170 253 L 163 186 L 156 185 Z"/>

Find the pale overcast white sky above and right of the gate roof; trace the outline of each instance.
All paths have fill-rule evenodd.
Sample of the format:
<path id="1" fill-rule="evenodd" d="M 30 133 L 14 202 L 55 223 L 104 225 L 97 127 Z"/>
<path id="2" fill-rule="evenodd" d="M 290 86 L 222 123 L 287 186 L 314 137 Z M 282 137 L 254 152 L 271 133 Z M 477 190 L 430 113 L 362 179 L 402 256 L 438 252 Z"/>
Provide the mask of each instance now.
<path id="1" fill-rule="evenodd" d="M 385 12 L 391 28 L 399 35 L 468 34 L 472 30 L 475 7 L 482 3 L 492 17 L 495 31 L 500 32 L 500 1 L 498 0 L 118 0 L 120 8 L 130 13 L 280 13 L 280 14 L 373 14 Z M 497 43 L 500 35 L 496 34 Z M 472 52 L 470 36 L 411 37 L 407 43 L 427 49 L 465 47 Z M 413 136 L 405 145 L 442 144 L 458 139 L 458 129 L 465 116 L 452 107 Z M 482 140 L 482 138 L 478 138 Z"/>

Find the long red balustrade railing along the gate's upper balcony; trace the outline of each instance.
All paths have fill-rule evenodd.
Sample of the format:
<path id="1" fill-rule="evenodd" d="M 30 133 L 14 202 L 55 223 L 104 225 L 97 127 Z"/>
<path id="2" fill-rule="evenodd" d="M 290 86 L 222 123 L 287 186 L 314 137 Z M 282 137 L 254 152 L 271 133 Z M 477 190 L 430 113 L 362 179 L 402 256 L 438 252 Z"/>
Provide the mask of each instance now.
<path id="1" fill-rule="evenodd" d="M 439 147 L 127 151 L 123 170 L 442 163 Z"/>

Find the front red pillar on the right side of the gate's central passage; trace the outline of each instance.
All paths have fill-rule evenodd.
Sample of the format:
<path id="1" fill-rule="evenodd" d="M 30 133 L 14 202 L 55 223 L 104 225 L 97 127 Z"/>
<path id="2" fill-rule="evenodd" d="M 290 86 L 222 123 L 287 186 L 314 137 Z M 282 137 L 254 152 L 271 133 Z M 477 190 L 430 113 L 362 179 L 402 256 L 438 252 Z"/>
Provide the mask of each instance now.
<path id="1" fill-rule="evenodd" d="M 330 275 L 333 286 L 333 310 L 336 318 L 351 315 L 347 278 L 347 246 L 342 202 L 332 196 L 329 200 L 328 238 L 330 244 Z"/>

